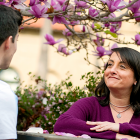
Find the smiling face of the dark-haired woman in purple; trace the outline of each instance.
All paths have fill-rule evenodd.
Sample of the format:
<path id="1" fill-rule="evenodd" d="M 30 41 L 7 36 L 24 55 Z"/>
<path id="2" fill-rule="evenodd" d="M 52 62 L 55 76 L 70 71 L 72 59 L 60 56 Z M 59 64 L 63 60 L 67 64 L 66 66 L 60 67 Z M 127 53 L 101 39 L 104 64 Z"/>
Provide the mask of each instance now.
<path id="1" fill-rule="evenodd" d="M 121 60 L 120 55 L 117 55 L 116 52 L 113 52 L 108 60 L 104 80 L 109 89 L 132 90 L 132 86 L 136 82 L 133 70 Z"/>

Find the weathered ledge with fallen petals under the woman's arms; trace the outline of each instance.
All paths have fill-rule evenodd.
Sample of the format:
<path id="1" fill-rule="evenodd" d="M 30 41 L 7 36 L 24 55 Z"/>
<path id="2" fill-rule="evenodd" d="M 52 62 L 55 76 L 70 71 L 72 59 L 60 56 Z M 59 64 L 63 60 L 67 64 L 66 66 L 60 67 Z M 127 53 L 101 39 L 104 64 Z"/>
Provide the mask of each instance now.
<path id="1" fill-rule="evenodd" d="M 29 133 L 25 131 L 18 131 L 17 134 L 18 134 L 17 140 L 105 140 L 97 138 L 85 139 L 68 136 L 58 136 L 55 134 Z"/>

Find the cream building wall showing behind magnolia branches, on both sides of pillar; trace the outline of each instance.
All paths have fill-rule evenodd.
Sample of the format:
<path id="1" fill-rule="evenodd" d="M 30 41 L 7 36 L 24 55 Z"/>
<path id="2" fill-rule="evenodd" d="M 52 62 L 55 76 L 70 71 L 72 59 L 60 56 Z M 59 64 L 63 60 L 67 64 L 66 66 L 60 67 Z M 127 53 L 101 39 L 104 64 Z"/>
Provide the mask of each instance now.
<path id="1" fill-rule="evenodd" d="M 122 32 L 125 38 L 128 41 L 132 41 L 132 36 L 139 31 L 138 25 L 133 24 L 123 24 L 123 28 L 120 32 Z M 51 28 L 51 27 L 50 27 Z M 57 31 L 56 28 L 53 30 L 53 36 L 55 39 L 63 38 L 62 31 Z M 44 34 L 45 35 L 45 34 Z M 35 75 L 41 75 L 39 73 L 39 63 L 40 63 L 40 55 L 41 55 L 41 46 L 44 43 L 40 29 L 24 29 L 21 31 L 18 41 L 18 49 L 11 63 L 11 67 L 14 68 L 21 78 L 21 81 L 25 81 L 25 84 L 31 84 L 30 77 L 28 76 L 29 72 L 32 72 Z M 61 43 L 65 43 L 64 40 Z M 109 42 L 107 41 L 106 44 Z M 56 45 L 57 46 L 57 45 Z M 134 45 L 119 45 L 128 46 L 140 51 L 140 47 L 134 47 Z M 93 65 L 88 65 L 88 63 L 84 60 L 86 55 L 85 50 L 80 50 L 77 53 L 74 53 L 70 56 L 62 56 L 57 53 L 56 49 L 52 46 L 46 45 L 47 47 L 47 61 L 43 62 L 44 66 L 47 65 L 46 76 L 43 79 L 47 79 L 49 83 L 55 84 L 60 83 L 61 80 L 64 80 L 69 74 L 72 74 L 72 81 L 76 86 L 83 86 L 84 81 L 81 81 L 81 75 L 93 71 L 96 72 L 97 68 Z M 89 47 L 92 51 L 92 48 Z M 90 52 L 91 52 L 90 51 Z M 92 54 L 92 52 L 91 52 Z M 108 58 L 107 58 L 108 59 Z M 106 60 L 107 60 L 106 59 Z M 90 61 L 94 64 L 98 64 L 101 62 L 97 61 L 97 57 L 91 55 Z M 43 68 L 42 68 L 43 69 Z"/>

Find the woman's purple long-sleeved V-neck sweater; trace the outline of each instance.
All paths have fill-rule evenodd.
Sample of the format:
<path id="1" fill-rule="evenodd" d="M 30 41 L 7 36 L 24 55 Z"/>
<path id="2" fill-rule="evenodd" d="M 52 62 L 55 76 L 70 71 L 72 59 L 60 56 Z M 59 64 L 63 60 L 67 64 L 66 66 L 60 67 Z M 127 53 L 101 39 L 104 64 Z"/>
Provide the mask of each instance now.
<path id="1" fill-rule="evenodd" d="M 90 128 L 93 126 L 87 125 L 86 121 L 114 122 L 110 106 L 101 106 L 93 96 L 82 98 L 58 118 L 54 132 L 72 133 L 77 136 L 87 134 L 92 138 L 102 139 L 116 138 L 117 133 L 113 131 L 91 131 Z M 133 115 L 129 123 L 120 123 L 119 133 L 140 138 L 140 116 Z"/>

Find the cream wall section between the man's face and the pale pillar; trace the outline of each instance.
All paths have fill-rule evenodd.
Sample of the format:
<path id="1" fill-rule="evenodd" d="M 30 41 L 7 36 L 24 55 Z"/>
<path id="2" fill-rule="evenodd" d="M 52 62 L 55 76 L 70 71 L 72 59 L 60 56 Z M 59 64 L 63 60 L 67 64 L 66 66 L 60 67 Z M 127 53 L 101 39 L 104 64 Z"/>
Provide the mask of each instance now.
<path id="1" fill-rule="evenodd" d="M 39 32 L 39 30 L 31 29 L 20 32 L 17 52 L 10 65 L 18 72 L 21 81 L 25 81 L 25 84 L 30 84 L 28 73 L 36 74 L 37 72 L 41 44 Z"/>

